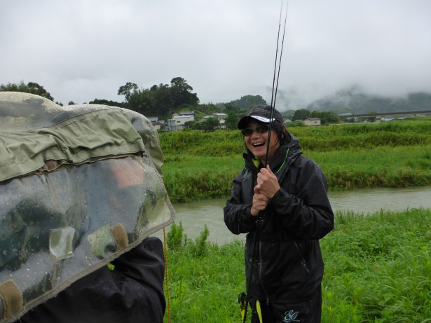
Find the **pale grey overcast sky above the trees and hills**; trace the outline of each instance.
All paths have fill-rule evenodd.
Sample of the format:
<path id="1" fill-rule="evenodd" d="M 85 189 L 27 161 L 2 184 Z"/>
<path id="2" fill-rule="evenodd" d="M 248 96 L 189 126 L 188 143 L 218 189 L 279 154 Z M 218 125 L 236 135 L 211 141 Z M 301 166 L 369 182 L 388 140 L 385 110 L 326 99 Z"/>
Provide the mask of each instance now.
<path id="1" fill-rule="evenodd" d="M 281 4 L 0 0 L 0 84 L 36 82 L 63 104 L 123 102 L 127 82 L 182 77 L 201 103 L 269 103 Z M 431 92 L 430 0 L 290 0 L 283 45 L 280 110 L 353 84 L 376 95 Z"/>

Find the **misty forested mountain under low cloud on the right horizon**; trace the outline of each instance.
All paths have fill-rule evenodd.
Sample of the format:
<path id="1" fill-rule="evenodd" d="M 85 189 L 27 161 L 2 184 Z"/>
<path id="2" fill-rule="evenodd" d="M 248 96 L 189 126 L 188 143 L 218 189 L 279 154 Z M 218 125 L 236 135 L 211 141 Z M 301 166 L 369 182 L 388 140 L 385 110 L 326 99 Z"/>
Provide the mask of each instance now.
<path id="1" fill-rule="evenodd" d="M 431 110 L 431 93 L 414 92 L 406 97 L 367 95 L 350 88 L 341 90 L 309 104 L 310 111 L 331 111 L 336 114 L 367 114 L 369 112 L 399 112 Z"/>

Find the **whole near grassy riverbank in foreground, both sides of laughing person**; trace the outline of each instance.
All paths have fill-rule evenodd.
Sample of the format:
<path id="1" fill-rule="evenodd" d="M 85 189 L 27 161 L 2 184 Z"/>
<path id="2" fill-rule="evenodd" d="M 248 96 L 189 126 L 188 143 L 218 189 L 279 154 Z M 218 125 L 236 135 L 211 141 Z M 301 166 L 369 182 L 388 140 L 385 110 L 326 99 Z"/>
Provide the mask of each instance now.
<path id="1" fill-rule="evenodd" d="M 427 322 L 431 317 L 431 209 L 336 214 L 321 240 L 322 322 Z M 168 249 L 172 322 L 240 322 L 244 245 L 189 240 Z M 165 315 L 165 322 L 167 322 Z"/>

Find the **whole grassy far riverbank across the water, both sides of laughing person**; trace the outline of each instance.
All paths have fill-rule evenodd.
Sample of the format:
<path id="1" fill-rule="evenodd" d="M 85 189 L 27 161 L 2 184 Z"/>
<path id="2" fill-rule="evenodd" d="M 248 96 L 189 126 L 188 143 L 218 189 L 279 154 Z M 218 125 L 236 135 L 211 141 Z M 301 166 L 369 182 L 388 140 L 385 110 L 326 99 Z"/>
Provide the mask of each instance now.
<path id="1" fill-rule="evenodd" d="M 289 129 L 317 162 L 331 191 L 431 185 L 431 121 Z M 236 131 L 160 134 L 164 182 L 172 202 L 227 198 L 243 167 Z"/>

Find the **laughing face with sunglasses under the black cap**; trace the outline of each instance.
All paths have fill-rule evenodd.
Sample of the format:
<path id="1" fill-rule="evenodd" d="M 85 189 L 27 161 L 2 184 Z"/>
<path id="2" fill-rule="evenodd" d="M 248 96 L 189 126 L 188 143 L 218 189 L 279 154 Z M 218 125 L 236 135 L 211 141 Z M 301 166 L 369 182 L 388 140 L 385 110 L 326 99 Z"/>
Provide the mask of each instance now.
<path id="1" fill-rule="evenodd" d="M 258 128 L 258 127 L 261 128 Z M 264 127 L 262 127 L 264 126 Z M 251 135 L 244 136 L 244 142 L 249 151 L 252 152 L 252 154 L 259 158 L 262 163 L 265 163 L 266 160 L 266 149 L 268 148 L 268 135 L 269 132 L 268 128 L 265 128 L 265 126 L 268 125 L 259 125 L 259 123 L 256 123 L 254 121 L 250 122 L 247 125 L 247 129 L 250 130 L 264 130 L 263 132 L 259 133 L 258 131 L 253 131 Z M 262 129 L 264 128 L 264 129 Z M 266 130 L 266 131 L 265 131 Z M 269 152 L 268 152 L 268 164 L 271 162 L 271 160 L 274 157 L 275 151 L 280 147 L 280 142 L 278 142 L 277 133 L 275 130 L 271 131 L 271 144 L 269 146 Z"/>

